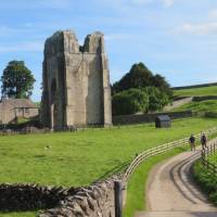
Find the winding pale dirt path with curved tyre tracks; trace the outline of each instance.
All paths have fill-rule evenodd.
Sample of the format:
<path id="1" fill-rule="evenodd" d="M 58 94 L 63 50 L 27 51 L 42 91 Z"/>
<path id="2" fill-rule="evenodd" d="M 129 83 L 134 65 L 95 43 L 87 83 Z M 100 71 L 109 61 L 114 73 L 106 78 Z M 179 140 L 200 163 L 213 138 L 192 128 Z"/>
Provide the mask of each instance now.
<path id="1" fill-rule="evenodd" d="M 148 210 L 136 217 L 217 217 L 191 177 L 191 165 L 200 151 L 181 153 L 156 165 L 148 181 Z"/>

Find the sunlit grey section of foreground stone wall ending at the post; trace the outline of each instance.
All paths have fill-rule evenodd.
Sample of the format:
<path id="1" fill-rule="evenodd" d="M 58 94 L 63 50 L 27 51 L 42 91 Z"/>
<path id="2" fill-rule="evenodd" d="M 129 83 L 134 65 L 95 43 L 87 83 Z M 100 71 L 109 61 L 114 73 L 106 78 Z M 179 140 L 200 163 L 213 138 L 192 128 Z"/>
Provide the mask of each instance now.
<path id="1" fill-rule="evenodd" d="M 59 207 L 47 209 L 39 217 L 114 217 L 114 176 L 105 181 L 81 188 L 67 196 Z"/>

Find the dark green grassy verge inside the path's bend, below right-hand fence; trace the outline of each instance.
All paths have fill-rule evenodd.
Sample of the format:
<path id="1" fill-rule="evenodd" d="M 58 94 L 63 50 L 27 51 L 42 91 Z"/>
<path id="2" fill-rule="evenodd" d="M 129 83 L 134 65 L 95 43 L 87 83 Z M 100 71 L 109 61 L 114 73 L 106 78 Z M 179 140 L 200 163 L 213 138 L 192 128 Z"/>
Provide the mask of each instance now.
<path id="1" fill-rule="evenodd" d="M 217 177 L 210 174 L 201 161 L 194 163 L 193 176 L 201 189 L 208 195 L 209 201 L 217 205 Z"/>

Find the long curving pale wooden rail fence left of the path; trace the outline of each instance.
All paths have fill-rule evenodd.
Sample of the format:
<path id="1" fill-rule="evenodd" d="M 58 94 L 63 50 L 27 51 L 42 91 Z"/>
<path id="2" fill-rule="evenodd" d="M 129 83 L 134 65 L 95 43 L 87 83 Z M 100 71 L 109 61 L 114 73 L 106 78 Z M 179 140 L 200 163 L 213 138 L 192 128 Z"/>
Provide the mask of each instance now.
<path id="1" fill-rule="evenodd" d="M 213 135 L 217 133 L 217 128 L 215 127 L 215 128 L 208 129 L 204 132 L 207 137 L 213 136 Z M 195 135 L 195 138 L 200 139 L 201 133 Z M 123 192 L 124 205 L 126 202 L 127 184 L 128 184 L 129 178 L 141 163 L 143 163 L 145 159 L 150 158 L 151 156 L 155 156 L 161 153 L 165 153 L 167 151 L 174 150 L 178 146 L 184 146 L 187 144 L 189 144 L 189 138 L 183 138 L 183 139 L 180 139 L 180 140 L 177 140 L 174 142 L 168 142 L 168 143 L 165 143 L 162 145 L 157 145 L 155 148 L 149 149 L 149 150 L 142 152 L 141 154 L 137 155 L 135 157 L 135 159 L 130 163 L 130 165 L 127 167 L 127 169 L 125 170 L 125 174 L 123 175 L 123 178 L 122 178 L 122 184 L 124 187 L 123 188 L 124 189 L 124 192 Z M 216 151 L 217 151 L 217 148 L 216 148 Z"/>

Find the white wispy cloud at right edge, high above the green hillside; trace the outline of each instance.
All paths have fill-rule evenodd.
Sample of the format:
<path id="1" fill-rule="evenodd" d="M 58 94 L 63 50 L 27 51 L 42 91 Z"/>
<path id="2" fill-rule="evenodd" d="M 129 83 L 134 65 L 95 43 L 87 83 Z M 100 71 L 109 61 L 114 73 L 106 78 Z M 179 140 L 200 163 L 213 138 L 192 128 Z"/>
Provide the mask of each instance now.
<path id="1" fill-rule="evenodd" d="M 176 31 L 192 35 L 217 35 L 217 22 L 203 24 L 186 23 L 180 28 L 176 29 Z"/>

